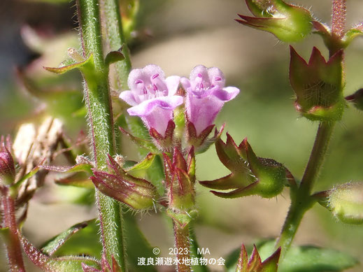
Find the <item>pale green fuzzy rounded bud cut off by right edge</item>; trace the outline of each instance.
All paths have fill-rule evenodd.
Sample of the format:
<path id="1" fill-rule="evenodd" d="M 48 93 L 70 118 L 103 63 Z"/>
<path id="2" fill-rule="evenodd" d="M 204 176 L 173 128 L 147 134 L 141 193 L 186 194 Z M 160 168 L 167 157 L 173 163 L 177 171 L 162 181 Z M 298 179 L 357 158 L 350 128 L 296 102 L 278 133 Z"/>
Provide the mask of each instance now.
<path id="1" fill-rule="evenodd" d="M 346 183 L 329 191 L 329 208 L 348 224 L 363 223 L 363 182 Z"/>

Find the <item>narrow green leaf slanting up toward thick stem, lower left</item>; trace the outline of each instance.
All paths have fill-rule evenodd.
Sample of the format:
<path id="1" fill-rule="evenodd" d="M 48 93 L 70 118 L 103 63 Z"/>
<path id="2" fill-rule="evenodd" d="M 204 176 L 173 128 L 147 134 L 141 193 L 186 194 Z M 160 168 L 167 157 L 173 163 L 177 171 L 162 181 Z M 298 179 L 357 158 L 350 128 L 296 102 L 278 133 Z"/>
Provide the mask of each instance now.
<path id="1" fill-rule="evenodd" d="M 73 234 L 76 234 L 80 229 L 87 227 L 90 222 L 92 222 L 92 220 L 75 224 L 66 231 L 63 231 L 62 234 L 46 241 L 41 247 L 41 252 L 49 256 L 53 255 L 69 238 L 71 238 L 71 236 L 73 236 Z"/>

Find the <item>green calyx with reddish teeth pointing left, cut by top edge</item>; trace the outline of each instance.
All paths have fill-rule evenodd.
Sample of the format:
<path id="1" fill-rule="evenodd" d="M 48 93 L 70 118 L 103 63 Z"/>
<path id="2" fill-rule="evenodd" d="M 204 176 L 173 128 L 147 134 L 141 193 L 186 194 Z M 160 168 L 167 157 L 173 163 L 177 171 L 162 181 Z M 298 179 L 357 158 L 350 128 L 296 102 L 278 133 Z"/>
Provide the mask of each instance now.
<path id="1" fill-rule="evenodd" d="M 237 22 L 248 27 L 268 31 L 280 41 L 301 41 L 311 32 L 311 13 L 305 8 L 293 6 L 282 0 L 245 0 L 255 17 L 239 15 Z"/>

